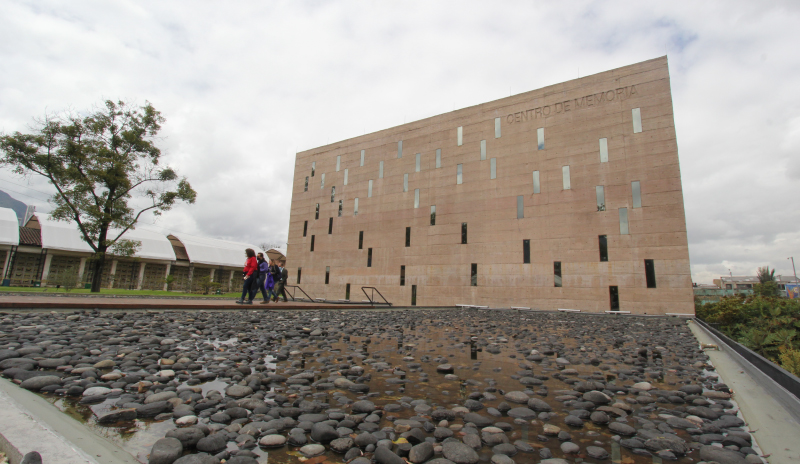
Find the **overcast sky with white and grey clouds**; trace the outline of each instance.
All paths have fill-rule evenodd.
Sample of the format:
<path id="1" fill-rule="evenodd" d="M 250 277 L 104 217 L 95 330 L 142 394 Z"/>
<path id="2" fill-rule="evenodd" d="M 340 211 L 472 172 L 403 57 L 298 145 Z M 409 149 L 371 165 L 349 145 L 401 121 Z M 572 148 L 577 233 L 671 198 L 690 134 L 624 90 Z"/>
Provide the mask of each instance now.
<path id="1" fill-rule="evenodd" d="M 0 132 L 150 101 L 197 202 L 285 243 L 295 153 L 667 54 L 696 282 L 800 263 L 800 2 L 0 0 Z M 48 185 L 0 189 L 49 211 Z"/>

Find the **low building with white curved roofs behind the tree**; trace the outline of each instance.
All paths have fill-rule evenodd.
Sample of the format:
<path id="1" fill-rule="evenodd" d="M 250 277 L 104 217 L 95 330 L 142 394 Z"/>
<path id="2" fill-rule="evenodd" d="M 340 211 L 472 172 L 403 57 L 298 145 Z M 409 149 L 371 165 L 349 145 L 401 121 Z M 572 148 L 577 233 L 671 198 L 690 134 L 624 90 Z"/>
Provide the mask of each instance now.
<path id="1" fill-rule="evenodd" d="M 170 290 L 197 291 L 199 279 L 210 277 L 223 291 L 236 289 L 251 244 L 185 234 L 163 235 L 134 229 L 124 235 L 142 246 L 130 258 L 107 256 L 102 287 L 129 290 L 167 290 L 164 279 L 173 276 Z M 81 283 L 92 281 L 93 251 L 73 223 L 54 221 L 34 213 L 23 227 L 17 215 L 0 208 L 0 262 L 3 285 L 12 287 L 55 286 L 58 276 L 76 272 Z"/>

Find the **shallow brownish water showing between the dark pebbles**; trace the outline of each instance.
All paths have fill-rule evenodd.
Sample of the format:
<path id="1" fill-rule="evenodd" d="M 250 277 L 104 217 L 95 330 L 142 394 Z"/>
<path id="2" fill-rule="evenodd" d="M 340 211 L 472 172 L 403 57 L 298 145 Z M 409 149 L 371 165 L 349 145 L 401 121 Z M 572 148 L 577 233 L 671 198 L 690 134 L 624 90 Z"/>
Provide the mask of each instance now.
<path id="1" fill-rule="evenodd" d="M 577 371 L 574 374 L 567 375 L 567 378 L 580 377 L 581 380 L 588 378 L 603 379 L 611 384 L 626 386 L 634 383 L 633 380 L 624 379 L 626 376 L 620 373 L 621 370 L 630 369 L 631 366 L 608 356 L 609 354 L 621 355 L 621 352 L 611 346 L 607 346 L 605 342 L 599 343 L 601 340 L 598 340 L 598 335 L 604 332 L 602 324 L 598 322 L 599 319 L 582 319 L 581 316 L 564 316 L 560 318 L 559 316 L 551 318 L 553 320 L 548 321 L 546 327 L 542 327 L 540 319 L 526 317 L 525 313 L 520 313 L 518 317 L 514 318 L 513 324 L 501 323 L 502 321 L 500 321 L 497 325 L 493 324 L 491 313 L 487 313 L 486 316 L 474 315 L 471 319 L 465 321 L 457 317 L 453 318 L 452 315 L 452 312 L 439 315 L 436 312 L 420 313 L 420 316 L 422 316 L 420 320 L 410 327 L 402 328 L 402 332 L 392 328 L 382 332 L 378 331 L 370 336 L 351 335 L 349 340 L 345 340 L 344 337 L 340 336 L 339 341 L 332 343 L 330 347 L 327 347 L 327 344 L 323 344 L 326 346 L 324 349 L 319 348 L 312 340 L 311 343 L 305 345 L 292 345 L 293 349 L 298 352 L 291 355 L 288 360 L 276 362 L 273 358 L 267 357 L 264 362 L 270 368 L 270 371 L 277 370 L 278 373 L 282 373 L 284 369 L 289 368 L 293 363 L 301 370 L 314 369 L 318 373 L 316 380 L 319 380 L 335 373 L 335 371 L 322 371 L 321 368 L 324 365 L 318 362 L 320 358 L 331 356 L 344 358 L 345 354 L 354 355 L 352 364 L 363 366 L 365 368 L 364 374 L 372 375 L 371 380 L 368 382 L 370 386 L 368 398 L 367 396 L 340 389 L 317 391 L 313 387 L 286 388 L 285 386 L 274 389 L 275 392 L 284 394 L 297 393 L 300 397 L 305 395 L 309 399 L 314 394 L 316 399 L 329 403 L 331 405 L 330 410 L 341 409 L 346 413 L 349 412 L 349 409 L 346 406 L 341 406 L 336 401 L 333 396 L 334 393 L 341 393 L 354 401 L 366 398 L 373 401 L 378 407 L 390 403 L 397 404 L 400 403 L 401 398 L 411 397 L 413 399 L 424 399 L 432 407 L 444 406 L 453 408 L 463 406 L 470 393 L 484 392 L 487 387 L 492 387 L 496 391 L 491 393 L 497 398 L 482 400 L 485 408 L 476 411 L 483 416 L 490 417 L 486 408 L 496 408 L 501 402 L 506 401 L 503 398 L 504 392 L 525 391 L 530 397 L 544 399 L 553 407 L 555 416 L 547 420 L 546 423 L 559 426 L 562 430 L 569 432 L 572 437 L 571 441 L 580 445 L 582 450 L 585 450 L 586 446 L 600 446 L 611 454 L 611 458 L 597 461 L 583 454 L 565 456 L 559 448 L 561 442 L 557 438 L 550 437 L 547 441 L 540 441 L 537 438 L 542 433 L 543 422 L 541 420 L 535 419 L 528 421 L 525 425 L 520 425 L 515 424 L 513 418 L 507 416 L 496 418 L 498 421 L 504 421 L 513 426 L 513 430 L 506 433 L 511 443 L 521 439 L 537 449 L 547 447 L 552 451 L 553 457 L 566 458 L 571 462 L 580 462 L 581 460 L 590 463 L 613 462 L 624 464 L 661 462 L 658 457 L 635 455 L 630 450 L 621 448 L 611 439 L 612 434 L 608 431 L 607 426 L 595 425 L 588 420 L 585 421 L 582 428 L 573 428 L 564 423 L 564 418 L 567 415 L 566 411 L 569 408 L 564 408 L 563 404 L 554 398 L 558 396 L 557 391 L 570 390 L 571 387 L 562 380 L 552 377 L 553 374 L 561 370 L 556 365 L 556 358 L 567 356 L 571 364 L 566 368 Z M 471 326 L 470 323 L 475 325 Z M 635 318 L 630 318 L 626 324 L 630 324 L 630 334 L 646 333 L 649 325 L 646 320 L 645 322 L 638 322 L 638 319 Z M 691 338 L 692 336 L 688 328 L 684 327 L 684 330 L 676 332 L 675 342 L 685 342 L 686 337 Z M 536 343 L 532 343 L 532 340 L 536 340 Z M 197 340 L 197 343 L 204 342 L 206 340 Z M 222 342 L 209 340 L 208 342 L 212 343 L 217 349 L 224 349 L 228 353 L 236 353 L 240 349 L 240 344 L 237 343 L 236 339 Z M 635 344 L 636 340 L 630 340 L 630 342 Z M 681 379 L 681 376 L 678 375 L 679 370 L 688 369 L 688 367 L 681 365 L 682 361 L 675 354 L 675 347 L 666 343 L 663 346 L 666 351 L 662 358 L 653 359 L 652 365 L 649 363 L 647 366 L 659 370 L 663 378 L 648 378 L 647 380 L 653 384 L 655 389 L 677 390 L 683 385 L 676 383 Z M 627 348 L 630 349 L 630 346 Z M 545 356 L 544 360 L 539 362 L 526 361 L 524 357 L 530 353 L 531 349 L 538 349 L 542 353 L 552 350 L 553 353 Z M 499 353 L 490 352 L 498 350 Z M 209 356 L 213 356 L 213 353 L 211 352 Z M 210 361 L 208 359 L 209 356 L 202 361 Z M 421 358 L 423 356 L 429 356 L 431 360 L 422 361 Z M 413 358 L 413 360 L 407 359 L 408 357 Z M 597 358 L 602 363 L 599 366 L 592 365 L 590 363 L 592 358 Z M 346 360 L 343 361 L 347 362 Z M 373 364 L 377 362 L 387 363 L 390 368 L 375 368 Z M 407 367 L 409 363 L 421 363 L 422 366 L 419 369 L 410 369 Z M 453 374 L 458 378 L 447 380 L 445 374 L 438 373 L 436 367 L 442 363 L 452 364 L 454 367 Z M 523 386 L 518 381 L 520 376 L 530 375 L 530 372 L 521 372 L 524 370 L 530 370 L 534 375 L 547 375 L 550 378 L 544 381 L 543 386 L 534 386 L 527 390 L 528 387 Z M 421 376 L 423 372 L 427 373 L 427 380 Z M 715 375 L 713 372 L 708 373 Z M 701 372 L 698 371 L 696 374 L 699 376 Z M 613 390 L 611 384 L 609 389 Z M 195 386 L 202 388 L 203 395 L 211 390 L 219 391 L 224 395 L 225 388 L 228 385 L 229 379 L 217 378 Z M 95 405 L 81 405 L 67 398 L 44 396 L 48 397 L 59 409 L 85 422 L 96 433 L 114 441 L 143 463 L 147 462 L 147 454 L 153 443 L 163 438 L 168 430 L 175 427 L 174 421 L 171 419 L 158 422 L 136 420 L 127 427 L 100 426 L 95 422 L 96 417 L 113 409 L 117 398 L 110 398 L 103 403 Z M 619 395 L 612 399 L 612 403 L 622 401 L 622 398 L 626 396 L 631 395 Z M 510 402 L 509 404 L 511 407 L 525 406 Z M 641 405 L 631 406 L 634 408 L 633 414 L 636 414 L 636 410 L 641 408 Z M 663 410 L 655 410 L 652 413 L 648 413 L 645 418 L 651 421 L 659 421 L 659 412 L 669 412 L 676 405 L 659 403 L 658 406 Z M 390 416 L 397 419 L 408 419 L 416 415 L 417 413 L 413 408 L 404 407 L 399 412 L 384 414 L 379 425 L 381 427 L 392 427 L 392 422 L 387 420 L 387 417 Z M 457 418 L 452 423 L 461 424 L 463 421 Z M 626 423 L 639 428 L 632 416 L 628 417 Z M 686 440 L 687 443 L 693 441 L 691 436 L 683 430 L 675 429 L 675 433 Z M 458 432 L 455 437 L 459 437 Z M 235 450 L 236 447 L 229 443 L 229 449 Z M 270 463 L 289 463 L 304 460 L 297 452 L 297 448 L 289 446 L 271 450 L 256 448 L 252 451 L 264 458 L 268 455 Z M 693 454 L 696 458 L 696 453 Z M 488 462 L 492 455 L 491 449 L 484 446 L 479 455 L 482 461 Z M 343 459 L 343 455 L 331 451 L 328 451 L 324 456 L 324 460 L 314 459 L 313 462 L 315 464 L 320 462 L 333 463 L 341 462 Z M 695 458 L 683 457 L 676 462 L 695 462 Z M 538 452 L 519 452 L 513 459 L 521 463 L 538 462 L 540 458 Z"/>

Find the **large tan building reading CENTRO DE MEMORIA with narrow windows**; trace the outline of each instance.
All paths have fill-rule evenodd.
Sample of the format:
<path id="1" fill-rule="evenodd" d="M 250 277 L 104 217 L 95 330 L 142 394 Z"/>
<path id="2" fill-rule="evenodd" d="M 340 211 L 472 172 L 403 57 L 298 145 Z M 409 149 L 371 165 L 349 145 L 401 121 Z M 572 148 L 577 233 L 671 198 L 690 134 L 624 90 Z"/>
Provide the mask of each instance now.
<path id="1" fill-rule="evenodd" d="M 290 284 L 693 313 L 667 58 L 297 154 Z"/>

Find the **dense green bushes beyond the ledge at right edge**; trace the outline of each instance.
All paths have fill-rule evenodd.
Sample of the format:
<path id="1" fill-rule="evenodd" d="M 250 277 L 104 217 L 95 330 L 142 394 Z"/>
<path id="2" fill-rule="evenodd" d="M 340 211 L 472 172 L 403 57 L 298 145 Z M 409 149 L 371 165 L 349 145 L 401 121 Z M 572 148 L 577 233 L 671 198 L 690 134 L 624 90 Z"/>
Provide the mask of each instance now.
<path id="1" fill-rule="evenodd" d="M 767 282 L 769 284 L 769 282 Z M 800 301 L 753 295 L 722 298 L 697 307 L 697 317 L 719 324 L 729 337 L 751 350 L 784 364 L 783 354 L 800 350 Z M 797 351 L 800 356 L 800 351 Z M 794 354 L 787 354 L 792 365 Z M 787 370 L 789 368 L 784 367 Z"/>

